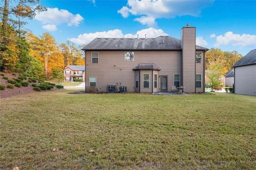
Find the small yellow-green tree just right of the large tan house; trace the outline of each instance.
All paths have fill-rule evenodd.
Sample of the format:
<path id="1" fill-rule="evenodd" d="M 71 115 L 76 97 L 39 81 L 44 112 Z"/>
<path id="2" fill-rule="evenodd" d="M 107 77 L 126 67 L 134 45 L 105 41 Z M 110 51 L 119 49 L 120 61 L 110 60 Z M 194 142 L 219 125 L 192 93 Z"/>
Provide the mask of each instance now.
<path id="1" fill-rule="evenodd" d="M 209 79 L 208 83 L 213 91 L 213 87 L 221 85 L 222 67 L 218 62 L 209 63 L 208 70 L 206 70 L 206 76 Z"/>

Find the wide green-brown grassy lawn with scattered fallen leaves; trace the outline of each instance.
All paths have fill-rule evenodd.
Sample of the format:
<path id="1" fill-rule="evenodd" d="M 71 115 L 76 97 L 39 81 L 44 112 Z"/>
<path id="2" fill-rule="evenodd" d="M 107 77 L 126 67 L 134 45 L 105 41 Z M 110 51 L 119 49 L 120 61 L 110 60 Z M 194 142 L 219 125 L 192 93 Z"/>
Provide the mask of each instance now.
<path id="1" fill-rule="evenodd" d="M 0 99 L 0 169 L 256 169 L 253 96 L 67 92 Z"/>

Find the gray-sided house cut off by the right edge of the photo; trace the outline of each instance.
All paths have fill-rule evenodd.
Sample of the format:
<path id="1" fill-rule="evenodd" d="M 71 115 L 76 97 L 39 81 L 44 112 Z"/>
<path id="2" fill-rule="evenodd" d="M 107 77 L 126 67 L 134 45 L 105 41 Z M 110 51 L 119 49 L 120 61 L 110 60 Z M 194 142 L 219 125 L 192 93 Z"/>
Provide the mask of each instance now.
<path id="1" fill-rule="evenodd" d="M 256 96 L 256 49 L 237 61 L 233 67 L 235 93 Z"/>

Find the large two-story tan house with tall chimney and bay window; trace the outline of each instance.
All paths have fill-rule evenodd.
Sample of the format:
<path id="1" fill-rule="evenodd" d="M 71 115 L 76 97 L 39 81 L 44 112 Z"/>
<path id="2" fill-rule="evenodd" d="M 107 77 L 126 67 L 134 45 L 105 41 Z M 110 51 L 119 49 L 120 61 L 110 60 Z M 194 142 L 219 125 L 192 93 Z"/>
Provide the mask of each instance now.
<path id="1" fill-rule="evenodd" d="M 156 38 L 95 38 L 85 51 L 86 91 L 106 92 L 108 85 L 127 92 L 204 92 L 204 53 L 196 45 L 196 28 L 183 27 L 181 40 Z"/>

